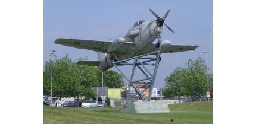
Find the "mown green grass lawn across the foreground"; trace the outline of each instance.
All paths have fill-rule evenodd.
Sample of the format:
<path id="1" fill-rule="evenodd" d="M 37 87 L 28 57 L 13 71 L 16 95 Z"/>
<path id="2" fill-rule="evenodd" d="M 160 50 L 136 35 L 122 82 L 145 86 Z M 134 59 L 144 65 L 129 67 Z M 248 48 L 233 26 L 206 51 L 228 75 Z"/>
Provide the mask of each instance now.
<path id="1" fill-rule="evenodd" d="M 110 108 L 43 107 L 43 123 L 213 123 L 213 103 L 171 104 L 170 113 L 120 113 Z M 199 109 L 198 109 L 199 108 Z M 179 119 L 180 118 L 180 119 Z"/>

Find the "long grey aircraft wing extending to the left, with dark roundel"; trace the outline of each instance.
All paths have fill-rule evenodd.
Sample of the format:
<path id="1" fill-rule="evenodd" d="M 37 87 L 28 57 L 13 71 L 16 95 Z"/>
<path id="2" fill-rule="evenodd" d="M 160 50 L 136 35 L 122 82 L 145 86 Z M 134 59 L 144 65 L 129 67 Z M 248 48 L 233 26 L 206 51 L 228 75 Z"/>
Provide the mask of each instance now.
<path id="1" fill-rule="evenodd" d="M 96 52 L 107 53 L 107 49 L 111 42 L 102 40 L 78 40 L 78 39 L 56 39 L 56 44 L 75 47 L 78 49 L 88 49 Z"/>

